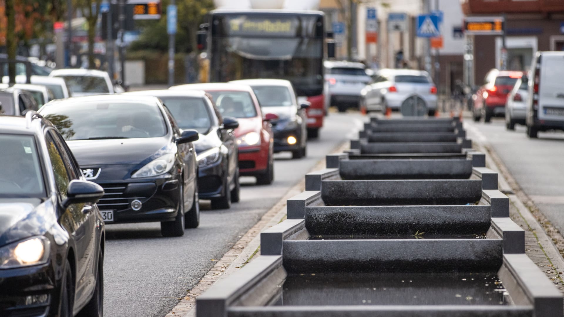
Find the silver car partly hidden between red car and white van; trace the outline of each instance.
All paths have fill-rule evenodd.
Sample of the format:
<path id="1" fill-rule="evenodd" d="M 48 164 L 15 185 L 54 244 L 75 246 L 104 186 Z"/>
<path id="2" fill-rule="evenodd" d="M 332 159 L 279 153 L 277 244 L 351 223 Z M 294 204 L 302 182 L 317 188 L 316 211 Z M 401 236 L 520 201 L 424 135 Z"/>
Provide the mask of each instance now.
<path id="1" fill-rule="evenodd" d="M 515 124 L 525 125 L 527 115 L 528 78 L 519 78 L 505 102 L 505 127 L 515 130 Z"/>

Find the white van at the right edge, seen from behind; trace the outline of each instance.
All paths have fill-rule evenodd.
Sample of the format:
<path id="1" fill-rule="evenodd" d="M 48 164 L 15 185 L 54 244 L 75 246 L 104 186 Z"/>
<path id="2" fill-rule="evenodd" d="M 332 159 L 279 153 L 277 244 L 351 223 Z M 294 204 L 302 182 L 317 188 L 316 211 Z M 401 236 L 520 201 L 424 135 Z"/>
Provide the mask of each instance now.
<path id="1" fill-rule="evenodd" d="M 528 82 L 527 135 L 564 130 L 564 52 L 536 52 Z"/>

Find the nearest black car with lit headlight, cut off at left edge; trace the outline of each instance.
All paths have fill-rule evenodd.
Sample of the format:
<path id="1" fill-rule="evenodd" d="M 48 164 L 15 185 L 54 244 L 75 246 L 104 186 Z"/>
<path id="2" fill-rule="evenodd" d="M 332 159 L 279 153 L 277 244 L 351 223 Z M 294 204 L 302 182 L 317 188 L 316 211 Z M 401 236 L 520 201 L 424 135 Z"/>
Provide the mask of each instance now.
<path id="1" fill-rule="evenodd" d="M 104 195 L 47 120 L 0 116 L 0 316 L 102 316 Z"/>

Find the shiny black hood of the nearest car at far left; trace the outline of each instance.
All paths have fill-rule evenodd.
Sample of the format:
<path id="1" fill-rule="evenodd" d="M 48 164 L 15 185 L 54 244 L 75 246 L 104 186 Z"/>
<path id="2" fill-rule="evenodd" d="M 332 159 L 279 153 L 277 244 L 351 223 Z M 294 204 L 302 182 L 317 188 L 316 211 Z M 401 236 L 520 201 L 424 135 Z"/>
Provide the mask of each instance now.
<path id="1" fill-rule="evenodd" d="M 49 205 L 39 198 L 0 199 L 0 246 L 49 230 L 56 223 Z"/>

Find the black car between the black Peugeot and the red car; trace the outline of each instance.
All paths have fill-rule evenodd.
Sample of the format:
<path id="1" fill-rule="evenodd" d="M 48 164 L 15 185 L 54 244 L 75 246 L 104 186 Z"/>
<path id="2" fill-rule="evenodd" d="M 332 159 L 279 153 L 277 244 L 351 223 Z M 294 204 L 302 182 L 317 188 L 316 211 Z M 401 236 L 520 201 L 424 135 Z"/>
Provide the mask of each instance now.
<path id="1" fill-rule="evenodd" d="M 239 201 L 239 160 L 234 118 L 219 114 L 204 91 L 148 90 L 127 95 L 150 95 L 162 100 L 180 129 L 196 129 L 200 139 L 194 142 L 199 166 L 198 192 L 211 199 L 212 209 L 226 209 Z"/>

